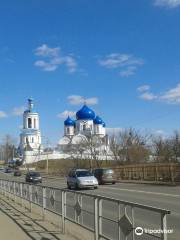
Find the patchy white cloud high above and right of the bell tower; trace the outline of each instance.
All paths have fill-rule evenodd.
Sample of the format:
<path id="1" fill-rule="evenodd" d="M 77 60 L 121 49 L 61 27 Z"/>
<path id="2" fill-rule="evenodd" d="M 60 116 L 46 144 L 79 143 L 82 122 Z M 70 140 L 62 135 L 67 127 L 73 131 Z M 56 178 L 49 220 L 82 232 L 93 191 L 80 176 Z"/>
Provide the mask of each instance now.
<path id="1" fill-rule="evenodd" d="M 43 71 L 55 71 L 60 65 L 67 67 L 69 73 L 77 71 L 78 64 L 74 56 L 71 54 L 63 55 L 60 52 L 60 47 L 50 48 L 48 45 L 35 49 L 35 55 L 43 59 L 35 61 L 34 65 Z"/>

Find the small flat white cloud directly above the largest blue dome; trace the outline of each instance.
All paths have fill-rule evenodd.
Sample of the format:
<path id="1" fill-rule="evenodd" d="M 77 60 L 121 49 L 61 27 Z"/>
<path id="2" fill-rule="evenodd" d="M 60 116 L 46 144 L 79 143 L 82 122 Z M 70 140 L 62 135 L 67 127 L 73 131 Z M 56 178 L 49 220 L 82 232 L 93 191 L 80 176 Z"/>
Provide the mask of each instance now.
<path id="1" fill-rule="evenodd" d="M 79 95 L 71 95 L 68 96 L 68 101 L 71 105 L 81 105 L 81 104 L 88 104 L 88 105 L 96 105 L 98 104 L 98 98 L 92 97 L 92 98 L 84 98 Z"/>

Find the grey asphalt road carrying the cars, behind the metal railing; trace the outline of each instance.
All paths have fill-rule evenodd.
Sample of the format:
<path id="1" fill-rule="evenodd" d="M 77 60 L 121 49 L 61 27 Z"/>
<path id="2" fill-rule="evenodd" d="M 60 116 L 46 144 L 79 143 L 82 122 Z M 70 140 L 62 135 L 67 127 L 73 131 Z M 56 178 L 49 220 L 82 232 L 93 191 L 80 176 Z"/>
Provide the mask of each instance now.
<path id="1" fill-rule="evenodd" d="M 13 177 L 12 174 L 0 173 L 0 178 L 8 178 L 19 181 L 24 181 L 24 176 Z M 64 188 L 66 187 L 65 179 L 44 179 L 43 185 Z M 133 183 L 117 183 L 116 185 L 102 185 L 96 190 L 83 190 L 83 192 L 88 192 L 92 194 L 98 194 L 108 197 L 113 197 L 120 200 L 136 202 L 139 204 L 150 205 L 153 207 L 164 208 L 171 211 L 171 215 L 168 216 L 168 229 L 173 229 L 173 233 L 168 235 L 170 240 L 179 240 L 180 236 L 180 186 L 160 186 L 160 185 L 148 185 L 148 184 L 133 184 Z M 92 204 L 86 199 L 84 202 L 89 209 L 92 208 Z M 106 203 L 106 213 L 108 216 L 112 215 L 112 212 L 117 213 L 114 209 L 116 206 L 108 206 Z M 70 213 L 69 213 L 70 214 Z M 116 214 L 115 214 L 116 215 Z M 114 215 L 114 217 L 115 217 Z M 111 216 L 112 217 L 112 216 Z M 150 212 L 137 211 L 135 217 L 138 219 L 136 226 L 144 227 L 144 222 L 149 223 L 150 229 L 158 229 L 159 222 L 156 216 L 151 215 Z M 91 217 L 86 216 L 84 221 L 91 225 Z M 110 223 L 109 223 L 110 224 Z M 107 223 L 104 224 L 104 232 L 113 235 L 116 239 L 116 231 L 112 227 L 106 229 Z M 145 238 L 138 238 L 143 239 Z M 153 238 L 147 238 L 153 239 Z"/>

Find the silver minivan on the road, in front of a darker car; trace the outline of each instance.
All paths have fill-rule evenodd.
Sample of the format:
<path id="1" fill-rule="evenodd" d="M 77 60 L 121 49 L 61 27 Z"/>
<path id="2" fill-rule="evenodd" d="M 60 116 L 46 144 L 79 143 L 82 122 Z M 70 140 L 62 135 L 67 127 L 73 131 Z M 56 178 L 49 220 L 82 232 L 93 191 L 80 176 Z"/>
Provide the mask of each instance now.
<path id="1" fill-rule="evenodd" d="M 69 189 L 97 188 L 98 181 L 94 175 L 86 169 L 76 169 L 69 172 L 67 177 Z"/>

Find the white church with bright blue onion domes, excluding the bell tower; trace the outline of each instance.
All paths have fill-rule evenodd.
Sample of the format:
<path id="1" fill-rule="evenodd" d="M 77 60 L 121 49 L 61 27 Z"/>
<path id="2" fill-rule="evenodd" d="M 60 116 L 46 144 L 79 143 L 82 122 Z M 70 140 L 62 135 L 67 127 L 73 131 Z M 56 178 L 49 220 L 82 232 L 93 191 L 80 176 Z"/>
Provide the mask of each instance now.
<path id="1" fill-rule="evenodd" d="M 89 154 L 88 145 L 93 143 L 93 151 L 100 158 L 107 157 L 109 153 L 109 139 L 106 134 L 106 125 L 102 118 L 95 114 L 86 104 L 77 111 L 76 119 L 68 118 L 64 121 L 64 136 L 58 146 L 61 152 L 67 153 L 78 146 L 87 146 L 83 152 L 84 158 Z M 91 144 L 92 147 L 92 144 Z"/>

